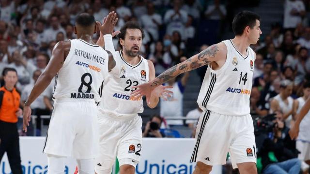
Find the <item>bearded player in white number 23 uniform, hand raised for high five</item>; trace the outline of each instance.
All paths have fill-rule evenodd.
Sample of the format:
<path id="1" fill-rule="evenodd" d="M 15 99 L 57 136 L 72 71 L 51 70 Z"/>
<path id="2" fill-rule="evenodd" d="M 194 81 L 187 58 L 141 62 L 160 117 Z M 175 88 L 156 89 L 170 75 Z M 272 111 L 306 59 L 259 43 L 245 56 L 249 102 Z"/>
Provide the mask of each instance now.
<path id="1" fill-rule="evenodd" d="M 122 50 L 115 52 L 111 35 L 104 36 L 107 50 L 117 53 L 118 75 L 109 74 L 104 82 L 102 100 L 98 106 L 100 134 L 100 157 L 96 158 L 95 172 L 111 174 L 115 157 L 120 163 L 120 174 L 135 174 L 135 167 L 140 160 L 142 147 L 143 112 L 141 97 L 130 97 L 131 87 L 146 83 L 155 78 L 152 61 L 139 55 L 144 37 L 143 29 L 136 22 L 127 22 L 118 34 Z M 113 54 L 115 55 L 115 54 Z M 154 90 L 147 105 L 154 108 L 158 97 L 170 87 Z"/>

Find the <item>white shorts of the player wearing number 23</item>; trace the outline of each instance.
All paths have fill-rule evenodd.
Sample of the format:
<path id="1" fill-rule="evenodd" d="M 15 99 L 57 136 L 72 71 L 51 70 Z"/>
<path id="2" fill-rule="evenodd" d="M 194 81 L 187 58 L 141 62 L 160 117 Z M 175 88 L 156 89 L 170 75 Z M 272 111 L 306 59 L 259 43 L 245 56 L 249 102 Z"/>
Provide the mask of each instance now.
<path id="1" fill-rule="evenodd" d="M 98 113 L 100 156 L 95 159 L 96 173 L 111 171 L 118 160 L 140 161 L 142 147 L 142 119 L 140 116 L 117 117 Z"/>

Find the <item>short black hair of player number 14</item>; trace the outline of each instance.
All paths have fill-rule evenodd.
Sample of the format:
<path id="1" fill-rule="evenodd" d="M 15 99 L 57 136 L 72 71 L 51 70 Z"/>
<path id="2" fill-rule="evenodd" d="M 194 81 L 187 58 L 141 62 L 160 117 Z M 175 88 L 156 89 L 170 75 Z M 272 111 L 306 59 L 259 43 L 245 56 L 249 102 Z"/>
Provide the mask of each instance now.
<path id="1" fill-rule="evenodd" d="M 233 18 L 233 33 L 234 35 L 242 35 L 244 29 L 249 26 L 251 29 L 256 24 L 256 20 L 261 20 L 258 14 L 249 11 L 241 11 Z"/>

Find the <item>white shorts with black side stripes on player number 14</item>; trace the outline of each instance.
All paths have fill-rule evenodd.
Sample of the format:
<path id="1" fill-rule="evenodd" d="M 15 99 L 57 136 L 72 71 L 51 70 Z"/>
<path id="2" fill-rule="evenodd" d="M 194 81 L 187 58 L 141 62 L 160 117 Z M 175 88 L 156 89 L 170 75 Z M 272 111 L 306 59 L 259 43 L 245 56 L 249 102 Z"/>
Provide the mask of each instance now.
<path id="1" fill-rule="evenodd" d="M 225 164 L 229 152 L 233 168 L 238 163 L 256 163 L 256 144 L 251 116 L 226 116 L 202 112 L 196 130 L 191 162 L 207 165 Z"/>

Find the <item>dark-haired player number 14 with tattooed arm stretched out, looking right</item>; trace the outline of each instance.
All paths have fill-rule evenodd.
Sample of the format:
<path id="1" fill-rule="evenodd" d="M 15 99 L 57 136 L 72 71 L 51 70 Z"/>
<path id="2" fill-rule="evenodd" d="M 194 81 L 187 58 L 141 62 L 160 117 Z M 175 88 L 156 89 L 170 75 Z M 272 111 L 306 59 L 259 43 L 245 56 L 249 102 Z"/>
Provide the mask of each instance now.
<path id="1" fill-rule="evenodd" d="M 213 165 L 225 164 L 227 151 L 233 168 L 241 174 L 257 174 L 253 121 L 249 114 L 255 52 L 262 31 L 260 16 L 248 11 L 233 19 L 235 37 L 214 44 L 201 53 L 175 65 L 154 80 L 137 86 L 132 97 L 150 95 L 158 85 L 187 71 L 209 65 L 198 104 L 203 110 L 196 131 L 192 162 L 194 174 L 209 174 Z"/>

